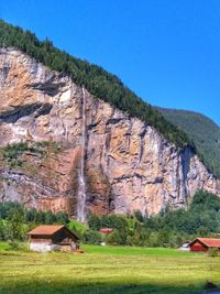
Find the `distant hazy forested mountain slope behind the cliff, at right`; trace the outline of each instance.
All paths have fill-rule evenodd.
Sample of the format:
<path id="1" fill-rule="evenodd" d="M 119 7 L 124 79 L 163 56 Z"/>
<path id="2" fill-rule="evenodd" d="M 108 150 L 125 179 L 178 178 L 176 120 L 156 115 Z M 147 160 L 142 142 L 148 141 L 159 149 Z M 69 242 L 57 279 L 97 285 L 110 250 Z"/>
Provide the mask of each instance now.
<path id="1" fill-rule="evenodd" d="M 210 118 L 195 111 L 160 107 L 156 109 L 166 120 L 187 133 L 206 166 L 220 177 L 220 127 Z"/>

